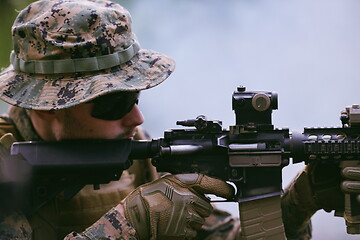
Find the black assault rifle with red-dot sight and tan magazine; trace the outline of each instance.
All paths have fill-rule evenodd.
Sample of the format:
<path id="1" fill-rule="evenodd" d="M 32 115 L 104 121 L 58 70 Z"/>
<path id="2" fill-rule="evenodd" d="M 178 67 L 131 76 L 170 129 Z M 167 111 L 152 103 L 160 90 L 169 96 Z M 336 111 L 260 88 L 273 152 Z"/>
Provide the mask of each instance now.
<path id="1" fill-rule="evenodd" d="M 294 163 L 357 164 L 360 108 L 354 105 L 342 113 L 342 127 L 305 128 L 298 133 L 272 125 L 272 110 L 278 107 L 274 92 L 238 87 L 232 107 L 236 124 L 229 129 L 223 129 L 221 121 L 199 116 L 177 122 L 188 128 L 165 131 L 160 139 L 14 143 L 13 162 L 26 159 L 31 171 L 31 200 L 25 209 L 31 213 L 63 191 L 71 197 L 85 184 L 118 180 L 132 159 L 151 157 L 159 172 L 200 172 L 232 182 L 237 189 L 232 201 L 239 203 L 244 239 L 285 239 L 282 168 L 290 158 Z M 345 202 L 340 215 L 348 233 L 359 234 L 360 204 L 351 195 Z"/>

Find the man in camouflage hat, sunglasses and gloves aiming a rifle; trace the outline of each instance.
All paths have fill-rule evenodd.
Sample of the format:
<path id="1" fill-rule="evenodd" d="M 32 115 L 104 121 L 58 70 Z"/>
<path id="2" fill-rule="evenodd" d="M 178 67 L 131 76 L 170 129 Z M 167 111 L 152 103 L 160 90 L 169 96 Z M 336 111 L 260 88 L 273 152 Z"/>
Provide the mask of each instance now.
<path id="1" fill-rule="evenodd" d="M 175 63 L 140 48 L 126 9 L 106 0 L 38 1 L 19 13 L 12 36 L 11 65 L 0 74 L 0 98 L 13 105 L 0 125 L 1 181 L 14 141 L 144 137 L 139 92 L 167 79 Z M 310 239 L 315 211 L 342 204 L 340 178 L 330 192 L 340 200 L 324 205 L 313 197 L 309 169 L 315 168 L 301 173 L 282 201 L 293 239 Z M 238 239 L 239 222 L 214 210 L 206 193 L 231 198 L 233 188 L 202 174 L 158 178 L 148 163 L 137 163 L 99 190 L 86 186 L 71 200 L 59 195 L 32 215 L 7 213 L 0 237 Z"/>

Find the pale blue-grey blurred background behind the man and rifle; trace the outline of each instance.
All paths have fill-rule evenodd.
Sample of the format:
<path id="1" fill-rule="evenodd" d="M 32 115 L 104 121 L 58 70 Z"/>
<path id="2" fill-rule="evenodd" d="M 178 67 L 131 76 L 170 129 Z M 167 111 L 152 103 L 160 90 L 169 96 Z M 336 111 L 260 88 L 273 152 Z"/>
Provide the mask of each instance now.
<path id="1" fill-rule="evenodd" d="M 31 1 L 0 0 L 0 67 L 9 65 L 10 27 Z M 144 91 L 140 107 L 152 137 L 177 120 L 203 114 L 234 124 L 236 87 L 279 94 L 276 127 L 339 126 L 340 111 L 360 103 L 360 1 L 119 0 L 143 48 L 177 62 L 173 75 Z M 6 112 L 8 106 L 0 106 Z M 284 187 L 303 165 L 286 167 Z M 218 204 L 238 212 L 236 204 Z M 359 239 L 342 218 L 319 211 L 313 239 Z"/>

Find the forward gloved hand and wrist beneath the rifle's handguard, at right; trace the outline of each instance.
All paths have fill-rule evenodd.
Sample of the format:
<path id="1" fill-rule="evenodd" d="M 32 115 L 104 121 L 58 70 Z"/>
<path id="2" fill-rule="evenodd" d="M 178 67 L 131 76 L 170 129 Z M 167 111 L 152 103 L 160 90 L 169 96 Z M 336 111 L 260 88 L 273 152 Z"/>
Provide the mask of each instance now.
<path id="1" fill-rule="evenodd" d="M 360 164 L 355 163 L 355 167 L 318 162 L 307 165 L 282 198 L 287 236 L 306 229 L 311 216 L 319 209 L 342 212 L 345 206 L 344 193 L 359 194 L 357 200 L 360 203 Z"/>

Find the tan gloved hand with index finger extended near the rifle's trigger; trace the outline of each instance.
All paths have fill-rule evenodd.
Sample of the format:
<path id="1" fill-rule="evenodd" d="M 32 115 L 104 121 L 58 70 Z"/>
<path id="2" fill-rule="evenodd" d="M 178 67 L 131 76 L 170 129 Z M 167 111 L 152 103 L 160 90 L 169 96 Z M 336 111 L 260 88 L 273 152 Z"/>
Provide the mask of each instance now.
<path id="1" fill-rule="evenodd" d="M 203 174 L 166 175 L 138 187 L 121 204 L 139 239 L 191 239 L 213 210 L 204 194 L 229 199 L 234 189 Z"/>

